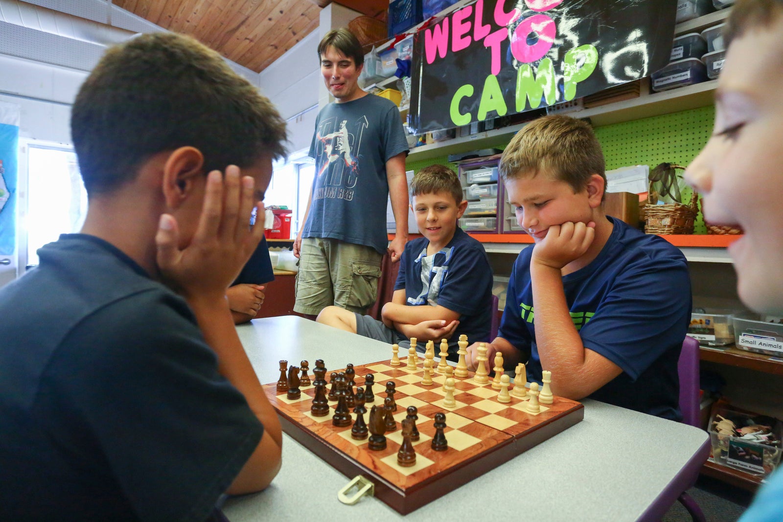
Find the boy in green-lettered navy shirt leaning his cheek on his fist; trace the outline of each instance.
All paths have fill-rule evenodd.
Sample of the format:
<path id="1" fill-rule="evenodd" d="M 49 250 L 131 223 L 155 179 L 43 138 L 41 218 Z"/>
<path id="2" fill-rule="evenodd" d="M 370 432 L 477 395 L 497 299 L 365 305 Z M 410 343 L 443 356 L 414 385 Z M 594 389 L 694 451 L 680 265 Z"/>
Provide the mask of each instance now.
<path id="1" fill-rule="evenodd" d="M 691 314 L 680 250 L 604 214 L 601 146 L 588 124 L 547 116 L 500 158 L 517 221 L 535 245 L 511 273 L 492 361 L 552 372 L 552 392 L 679 419 L 677 360 Z M 467 348 L 470 369 L 477 344 Z"/>

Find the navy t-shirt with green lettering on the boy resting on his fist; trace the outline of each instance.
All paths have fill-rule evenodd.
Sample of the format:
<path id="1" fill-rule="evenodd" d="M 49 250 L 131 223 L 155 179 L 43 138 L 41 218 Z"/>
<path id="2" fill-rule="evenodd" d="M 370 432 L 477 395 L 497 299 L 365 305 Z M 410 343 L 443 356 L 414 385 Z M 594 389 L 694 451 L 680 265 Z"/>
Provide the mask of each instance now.
<path id="1" fill-rule="evenodd" d="M 601 253 L 563 277 L 568 309 L 584 346 L 622 368 L 590 398 L 679 420 L 677 361 L 691 320 L 687 262 L 666 239 L 608 220 L 615 226 Z M 532 250 L 525 248 L 514 262 L 498 336 L 529 352 L 528 379 L 541 383 Z"/>

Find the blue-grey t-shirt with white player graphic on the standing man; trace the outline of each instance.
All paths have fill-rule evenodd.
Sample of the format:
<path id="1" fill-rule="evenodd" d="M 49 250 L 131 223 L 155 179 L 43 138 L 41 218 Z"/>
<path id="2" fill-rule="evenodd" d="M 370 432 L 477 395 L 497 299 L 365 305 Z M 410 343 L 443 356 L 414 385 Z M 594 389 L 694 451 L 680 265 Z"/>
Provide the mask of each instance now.
<path id="1" fill-rule="evenodd" d="M 330 237 L 386 252 L 386 161 L 408 150 L 399 109 L 366 95 L 330 103 L 316 119 L 310 212 L 302 237 Z"/>

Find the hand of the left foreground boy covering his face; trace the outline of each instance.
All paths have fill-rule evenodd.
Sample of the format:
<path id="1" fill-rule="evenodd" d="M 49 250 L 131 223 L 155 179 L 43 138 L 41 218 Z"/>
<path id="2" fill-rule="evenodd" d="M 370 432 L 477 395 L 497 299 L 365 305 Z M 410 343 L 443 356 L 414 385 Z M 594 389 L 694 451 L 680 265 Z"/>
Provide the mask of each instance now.
<path id="1" fill-rule="evenodd" d="M 189 301 L 226 300 L 226 289 L 264 234 L 263 222 L 250 221 L 254 202 L 254 179 L 244 176 L 236 165 L 207 175 L 204 204 L 190 243 L 180 250 L 179 228 L 171 214 L 161 215 L 155 242 L 157 265 L 164 282 Z M 258 203 L 258 214 L 264 213 Z"/>

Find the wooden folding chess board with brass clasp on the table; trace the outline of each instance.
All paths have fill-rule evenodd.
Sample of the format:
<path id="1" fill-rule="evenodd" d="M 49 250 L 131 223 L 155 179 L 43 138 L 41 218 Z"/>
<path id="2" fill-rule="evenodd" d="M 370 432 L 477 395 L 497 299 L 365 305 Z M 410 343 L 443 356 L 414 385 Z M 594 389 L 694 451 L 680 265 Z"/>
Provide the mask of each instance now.
<path id="1" fill-rule="evenodd" d="M 579 423 L 584 417 L 583 405 L 557 396 L 553 404 L 540 405 L 541 411 L 535 415 L 525 409 L 527 398 L 517 398 L 512 394 L 511 402 L 503 404 L 497 401 L 498 391 L 493 390 L 493 378 L 482 385 L 474 381 L 472 372 L 464 379 L 454 377 L 456 405 L 446 408 L 442 404 L 446 396 L 442 390 L 446 376 L 435 373 L 431 386 L 422 385 L 423 362 L 424 358 L 420 355 L 415 370 L 406 369 L 405 362 L 399 366 L 392 366 L 390 361 L 355 366 L 357 387 L 364 386 L 364 376 L 369 373 L 373 373 L 375 379 L 375 401 L 365 405 L 365 422 L 369 420 L 373 405 L 382 409 L 386 383 L 395 383 L 397 429 L 385 434 L 387 448 L 381 451 L 370 451 L 367 439 L 352 439 L 351 426 L 333 426 L 331 414 L 312 416 L 310 406 L 315 396 L 312 385 L 301 387 L 301 397 L 293 401 L 287 398 L 285 392 L 276 390 L 276 383 L 265 384 L 264 390 L 280 414 L 283 431 L 346 477 L 363 475 L 372 481 L 375 484 L 374 496 L 402 514 L 410 513 L 493 470 L 514 455 Z M 326 363 L 327 380 L 330 373 L 343 371 L 329 369 L 329 362 Z M 312 380 L 312 374 L 310 378 Z M 513 390 L 513 383 L 509 390 Z M 329 404 L 334 410 L 337 401 Z M 418 409 L 416 425 L 420 439 L 413 442 L 416 464 L 402 467 L 397 463 L 397 451 L 402 444 L 401 421 L 406 418 L 408 406 Z M 446 413 L 444 433 L 449 448 L 445 452 L 431 449 L 436 412 Z M 355 420 L 355 413 L 351 412 L 351 416 Z"/>

